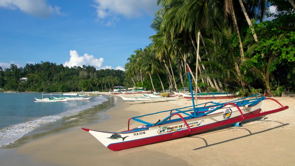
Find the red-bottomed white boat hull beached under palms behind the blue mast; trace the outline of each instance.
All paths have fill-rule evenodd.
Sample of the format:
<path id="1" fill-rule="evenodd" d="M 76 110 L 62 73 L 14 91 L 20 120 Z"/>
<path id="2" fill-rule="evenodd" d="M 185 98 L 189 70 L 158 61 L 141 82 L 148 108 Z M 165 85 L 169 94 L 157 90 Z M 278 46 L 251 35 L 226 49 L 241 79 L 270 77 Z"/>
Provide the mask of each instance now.
<path id="1" fill-rule="evenodd" d="M 180 95 L 182 95 L 186 99 L 191 99 L 191 94 L 186 94 L 186 93 L 181 93 L 179 92 Z M 237 97 L 237 93 L 198 93 L 197 94 L 197 99 L 231 99 Z M 196 95 L 194 95 L 194 99 L 196 98 Z"/>

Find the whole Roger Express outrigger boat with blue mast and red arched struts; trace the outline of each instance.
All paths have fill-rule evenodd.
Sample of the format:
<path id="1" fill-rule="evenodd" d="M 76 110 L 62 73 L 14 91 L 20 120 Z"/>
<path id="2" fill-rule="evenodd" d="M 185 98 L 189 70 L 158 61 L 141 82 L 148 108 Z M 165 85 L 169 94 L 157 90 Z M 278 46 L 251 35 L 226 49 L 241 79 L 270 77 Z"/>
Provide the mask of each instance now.
<path id="1" fill-rule="evenodd" d="M 190 73 L 189 81 L 191 86 Z M 274 110 L 263 111 L 261 107 L 265 100 L 273 100 L 281 107 Z M 193 106 L 132 117 L 128 120 L 127 131 L 106 132 L 86 128 L 82 129 L 92 134 L 107 148 L 113 151 L 119 151 L 177 139 L 220 126 L 236 123 L 240 124 L 242 121 L 248 119 L 276 113 L 289 108 L 288 106 L 281 105 L 275 99 L 267 98 L 266 96 L 258 97 L 258 94 L 224 103 L 207 102 L 195 105 L 194 100 L 192 100 L 192 102 Z M 153 122 L 140 119 L 159 113 L 168 113 L 168 116 L 163 120 Z M 144 125 L 130 129 L 130 120 L 143 123 Z"/>

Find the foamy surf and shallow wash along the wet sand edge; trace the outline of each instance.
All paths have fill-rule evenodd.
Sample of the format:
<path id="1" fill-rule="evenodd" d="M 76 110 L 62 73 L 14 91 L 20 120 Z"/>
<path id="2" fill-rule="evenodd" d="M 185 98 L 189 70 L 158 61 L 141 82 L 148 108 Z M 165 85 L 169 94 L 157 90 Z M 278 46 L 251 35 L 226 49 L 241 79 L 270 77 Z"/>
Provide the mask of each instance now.
<path id="1" fill-rule="evenodd" d="M 101 97 L 104 99 L 98 99 L 102 100 L 100 103 L 92 103 L 92 102 L 87 102 L 89 106 L 87 108 L 81 108 L 77 109 L 77 111 L 74 111 L 69 114 L 62 115 L 63 117 L 60 119 L 55 119 L 55 121 L 52 122 L 47 122 L 47 123 L 40 123 L 37 128 L 34 128 L 32 131 L 24 134 L 22 137 L 19 139 L 15 140 L 14 142 L 11 142 L 9 144 L 3 144 L 0 147 L 1 149 L 11 149 L 14 147 L 18 147 L 22 144 L 25 144 L 26 142 L 32 141 L 34 139 L 50 135 L 50 134 L 55 134 L 58 132 L 63 132 L 64 130 L 68 130 L 71 128 L 75 128 L 76 126 L 80 126 L 83 123 L 90 123 L 90 124 L 95 124 L 98 121 L 107 119 L 108 117 L 103 116 L 101 112 L 107 111 L 109 108 L 112 108 L 115 106 L 115 101 L 112 99 L 109 99 L 109 97 Z M 78 102 L 84 102 L 84 101 L 78 101 Z M 66 110 L 62 113 L 66 113 L 69 110 Z M 62 114 L 54 114 L 54 115 L 46 115 L 43 117 L 47 116 L 57 116 Z M 43 117 L 37 117 L 35 119 L 32 119 L 30 121 L 35 121 L 36 119 L 40 119 Z M 95 118 L 91 118 L 95 117 Z M 28 122 L 30 122 L 28 121 Z M 14 125 L 18 124 L 23 124 L 23 123 L 28 123 L 28 122 L 21 122 L 21 123 L 16 123 Z M 29 124 L 30 125 L 30 124 Z M 8 126 L 9 127 L 9 126 Z M 21 128 L 22 129 L 22 128 Z"/>

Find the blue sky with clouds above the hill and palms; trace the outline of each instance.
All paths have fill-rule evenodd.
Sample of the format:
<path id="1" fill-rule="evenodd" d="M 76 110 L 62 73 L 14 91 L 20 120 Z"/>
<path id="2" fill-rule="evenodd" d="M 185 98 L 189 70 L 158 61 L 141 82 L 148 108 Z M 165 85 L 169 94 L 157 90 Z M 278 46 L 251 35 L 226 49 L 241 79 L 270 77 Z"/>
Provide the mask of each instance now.
<path id="1" fill-rule="evenodd" d="M 0 66 L 124 69 L 155 31 L 157 0 L 0 0 Z"/>

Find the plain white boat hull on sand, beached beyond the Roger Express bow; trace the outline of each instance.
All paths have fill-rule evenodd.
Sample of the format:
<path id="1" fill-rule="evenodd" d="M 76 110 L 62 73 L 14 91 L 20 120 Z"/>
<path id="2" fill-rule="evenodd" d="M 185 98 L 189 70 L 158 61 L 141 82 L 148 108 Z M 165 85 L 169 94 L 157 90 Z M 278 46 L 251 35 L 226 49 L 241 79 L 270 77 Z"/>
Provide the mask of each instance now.
<path id="1" fill-rule="evenodd" d="M 120 96 L 124 101 L 127 102 L 160 102 L 160 101 L 174 101 L 178 98 L 175 97 L 124 97 Z"/>

